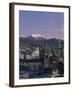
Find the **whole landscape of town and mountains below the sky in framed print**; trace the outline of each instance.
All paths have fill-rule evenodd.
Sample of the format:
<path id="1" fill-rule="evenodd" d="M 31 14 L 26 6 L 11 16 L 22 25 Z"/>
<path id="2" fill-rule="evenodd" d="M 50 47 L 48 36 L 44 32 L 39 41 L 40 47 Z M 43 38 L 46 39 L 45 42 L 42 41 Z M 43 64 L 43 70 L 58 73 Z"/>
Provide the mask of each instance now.
<path id="1" fill-rule="evenodd" d="M 64 76 L 64 41 L 42 36 L 19 38 L 19 78 Z"/>

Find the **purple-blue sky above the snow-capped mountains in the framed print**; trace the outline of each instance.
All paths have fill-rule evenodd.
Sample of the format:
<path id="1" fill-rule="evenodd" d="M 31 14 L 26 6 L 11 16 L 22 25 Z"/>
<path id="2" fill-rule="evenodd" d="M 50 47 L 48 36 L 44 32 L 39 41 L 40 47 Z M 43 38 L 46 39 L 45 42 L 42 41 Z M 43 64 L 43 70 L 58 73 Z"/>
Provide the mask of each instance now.
<path id="1" fill-rule="evenodd" d="M 64 13 L 19 11 L 19 36 L 41 34 L 47 38 L 64 38 Z"/>

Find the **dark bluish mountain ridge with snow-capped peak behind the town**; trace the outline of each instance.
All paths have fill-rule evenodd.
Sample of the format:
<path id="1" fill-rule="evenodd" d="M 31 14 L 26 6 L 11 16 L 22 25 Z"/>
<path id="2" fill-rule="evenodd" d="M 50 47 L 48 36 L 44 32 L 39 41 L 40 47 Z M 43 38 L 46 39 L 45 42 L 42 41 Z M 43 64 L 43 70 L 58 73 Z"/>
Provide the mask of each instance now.
<path id="1" fill-rule="evenodd" d="M 19 46 L 20 48 L 23 48 L 24 46 L 46 46 L 49 48 L 56 48 L 57 47 L 57 41 L 61 39 L 51 38 L 47 39 L 44 36 L 41 35 L 31 35 L 28 37 L 20 37 L 19 38 Z M 62 41 L 62 47 L 64 48 L 64 41 Z"/>

